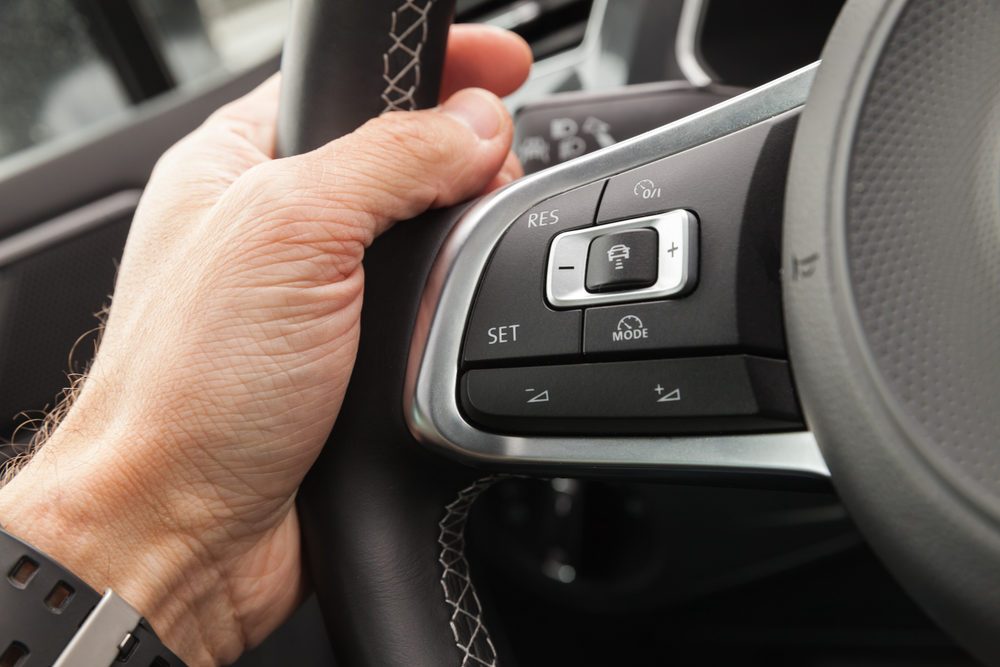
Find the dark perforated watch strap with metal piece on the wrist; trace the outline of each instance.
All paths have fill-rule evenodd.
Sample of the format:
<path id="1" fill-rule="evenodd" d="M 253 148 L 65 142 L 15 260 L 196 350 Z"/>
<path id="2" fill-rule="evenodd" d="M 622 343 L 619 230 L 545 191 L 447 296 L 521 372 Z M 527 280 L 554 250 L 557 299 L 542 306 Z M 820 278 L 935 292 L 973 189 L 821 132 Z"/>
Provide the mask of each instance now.
<path id="1" fill-rule="evenodd" d="M 0 663 L 14 667 L 183 667 L 111 590 L 0 528 Z"/>

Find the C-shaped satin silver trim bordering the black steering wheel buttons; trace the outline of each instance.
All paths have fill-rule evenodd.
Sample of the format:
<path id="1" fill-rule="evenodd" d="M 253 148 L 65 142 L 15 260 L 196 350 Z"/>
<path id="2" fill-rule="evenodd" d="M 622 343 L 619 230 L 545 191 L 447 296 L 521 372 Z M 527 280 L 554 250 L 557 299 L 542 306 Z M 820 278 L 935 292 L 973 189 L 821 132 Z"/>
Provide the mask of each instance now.
<path id="1" fill-rule="evenodd" d="M 533 174 L 494 192 L 452 229 L 428 276 L 407 364 L 403 409 L 431 447 L 507 466 L 634 467 L 829 476 L 809 432 L 697 437 L 538 437 L 471 426 L 458 406 L 462 337 L 478 277 L 507 227 L 534 204 L 574 187 L 749 127 L 801 106 L 816 65 L 662 128 Z M 476 279 L 470 279 L 470 277 Z"/>

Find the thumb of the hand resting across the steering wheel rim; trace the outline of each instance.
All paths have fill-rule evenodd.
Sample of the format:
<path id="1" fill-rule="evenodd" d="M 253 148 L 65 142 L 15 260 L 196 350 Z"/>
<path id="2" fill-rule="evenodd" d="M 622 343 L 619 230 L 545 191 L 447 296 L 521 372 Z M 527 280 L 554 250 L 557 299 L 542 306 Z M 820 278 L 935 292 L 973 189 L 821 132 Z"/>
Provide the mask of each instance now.
<path id="1" fill-rule="evenodd" d="M 469 88 L 435 109 L 387 113 L 310 153 L 262 164 L 245 185 L 272 220 L 308 220 L 367 246 L 398 220 L 480 194 L 504 167 L 512 136 L 500 99 Z"/>

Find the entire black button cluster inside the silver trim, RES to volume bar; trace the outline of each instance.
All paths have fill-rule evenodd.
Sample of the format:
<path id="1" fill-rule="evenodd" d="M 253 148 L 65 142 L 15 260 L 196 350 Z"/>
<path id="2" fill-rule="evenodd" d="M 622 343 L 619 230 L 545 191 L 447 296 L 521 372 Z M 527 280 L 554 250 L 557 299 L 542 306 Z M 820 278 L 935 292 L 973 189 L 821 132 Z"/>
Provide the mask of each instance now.
<path id="1" fill-rule="evenodd" d="M 517 435 L 801 429 L 776 358 L 783 182 L 766 178 L 781 173 L 768 132 L 618 173 L 511 224 L 464 335 L 463 419 Z M 722 356 L 676 358 L 695 349 Z"/>

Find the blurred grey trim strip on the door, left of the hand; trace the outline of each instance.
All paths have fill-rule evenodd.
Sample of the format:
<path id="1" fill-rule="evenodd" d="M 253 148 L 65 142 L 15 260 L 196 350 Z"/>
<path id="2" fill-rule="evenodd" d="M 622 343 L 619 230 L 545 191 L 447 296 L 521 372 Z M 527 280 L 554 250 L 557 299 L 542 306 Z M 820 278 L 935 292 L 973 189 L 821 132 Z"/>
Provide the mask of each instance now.
<path id="1" fill-rule="evenodd" d="M 122 190 L 0 239 L 0 269 L 135 210 L 141 190 Z"/>

